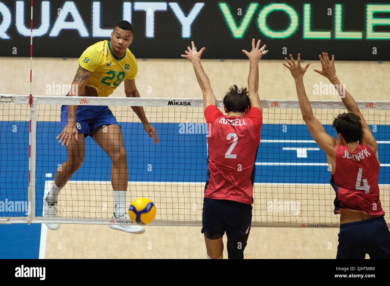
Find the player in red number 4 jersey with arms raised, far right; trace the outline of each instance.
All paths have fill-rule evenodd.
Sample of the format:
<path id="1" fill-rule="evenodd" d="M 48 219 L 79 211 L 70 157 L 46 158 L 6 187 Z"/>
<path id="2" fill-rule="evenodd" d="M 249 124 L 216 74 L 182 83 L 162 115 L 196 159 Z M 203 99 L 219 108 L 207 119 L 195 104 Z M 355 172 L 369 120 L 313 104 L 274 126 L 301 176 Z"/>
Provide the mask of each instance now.
<path id="1" fill-rule="evenodd" d="M 295 79 L 303 120 L 317 144 L 324 150 L 331 170 L 330 184 L 336 192 L 334 213 L 340 214 L 339 245 L 336 258 L 357 259 L 390 258 L 390 231 L 384 219 L 385 212 L 379 201 L 378 144 L 364 120 L 355 100 L 336 76 L 334 55 L 319 55 L 322 71 L 314 70 L 337 85 L 341 100 L 348 113 L 339 114 L 332 126 L 337 140 L 325 132 L 314 117 L 303 85 L 307 64 L 301 67 L 293 56 L 285 58 Z"/>

